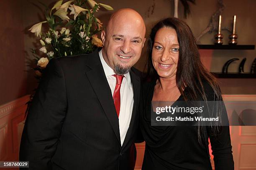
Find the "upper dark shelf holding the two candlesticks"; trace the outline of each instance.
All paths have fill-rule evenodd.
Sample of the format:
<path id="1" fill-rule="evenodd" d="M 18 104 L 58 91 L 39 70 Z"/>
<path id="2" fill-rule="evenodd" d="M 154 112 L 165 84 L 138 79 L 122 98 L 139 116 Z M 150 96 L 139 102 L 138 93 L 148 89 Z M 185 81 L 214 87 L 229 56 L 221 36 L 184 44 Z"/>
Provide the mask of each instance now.
<path id="1" fill-rule="evenodd" d="M 208 50 L 254 50 L 255 45 L 197 45 L 199 49 Z"/>

